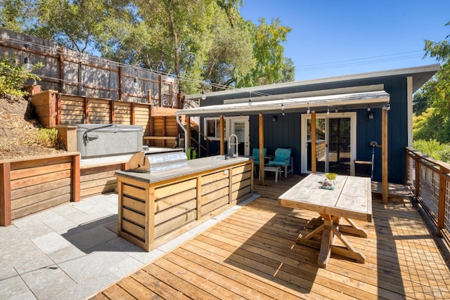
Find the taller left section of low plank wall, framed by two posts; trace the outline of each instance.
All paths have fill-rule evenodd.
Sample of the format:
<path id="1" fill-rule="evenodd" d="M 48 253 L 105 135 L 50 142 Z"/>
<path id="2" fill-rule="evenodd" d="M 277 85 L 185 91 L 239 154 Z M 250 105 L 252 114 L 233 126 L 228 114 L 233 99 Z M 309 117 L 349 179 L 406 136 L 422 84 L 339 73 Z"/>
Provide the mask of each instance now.
<path id="1" fill-rule="evenodd" d="M 79 153 L 0 161 L 0 226 L 79 201 Z"/>

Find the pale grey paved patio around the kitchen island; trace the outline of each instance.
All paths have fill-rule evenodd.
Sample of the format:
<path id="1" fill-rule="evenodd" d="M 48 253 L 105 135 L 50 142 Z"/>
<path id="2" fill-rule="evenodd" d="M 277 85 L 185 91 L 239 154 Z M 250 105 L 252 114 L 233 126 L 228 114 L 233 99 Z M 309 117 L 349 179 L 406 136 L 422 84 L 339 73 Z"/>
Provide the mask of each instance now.
<path id="1" fill-rule="evenodd" d="M 226 218 L 246 200 L 145 252 L 117 237 L 117 194 L 70 202 L 0 227 L 1 299 L 85 299 Z"/>

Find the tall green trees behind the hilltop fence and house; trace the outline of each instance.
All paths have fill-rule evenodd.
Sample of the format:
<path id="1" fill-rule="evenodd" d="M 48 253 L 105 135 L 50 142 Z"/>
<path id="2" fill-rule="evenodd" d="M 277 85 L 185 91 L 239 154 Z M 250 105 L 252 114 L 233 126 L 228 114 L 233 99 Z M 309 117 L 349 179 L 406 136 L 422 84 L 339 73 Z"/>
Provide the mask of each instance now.
<path id="1" fill-rule="evenodd" d="M 243 20 L 243 0 L 0 0 L 10 30 L 180 80 L 179 92 L 294 80 L 279 19 Z"/>

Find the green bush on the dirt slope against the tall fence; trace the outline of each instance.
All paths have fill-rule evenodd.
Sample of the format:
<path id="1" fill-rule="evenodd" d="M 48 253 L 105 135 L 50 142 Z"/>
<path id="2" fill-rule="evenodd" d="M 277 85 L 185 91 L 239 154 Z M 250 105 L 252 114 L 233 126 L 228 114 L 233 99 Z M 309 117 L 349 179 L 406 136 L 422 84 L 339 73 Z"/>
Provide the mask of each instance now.
<path id="1" fill-rule="evenodd" d="M 42 66 L 42 63 L 33 66 L 33 70 Z M 15 59 L 4 56 L 0 60 L 0 96 L 17 96 L 23 97 L 27 95 L 26 91 L 22 91 L 23 85 L 28 79 L 39 80 L 36 74 L 32 74 L 25 70 L 23 65 L 17 65 Z"/>

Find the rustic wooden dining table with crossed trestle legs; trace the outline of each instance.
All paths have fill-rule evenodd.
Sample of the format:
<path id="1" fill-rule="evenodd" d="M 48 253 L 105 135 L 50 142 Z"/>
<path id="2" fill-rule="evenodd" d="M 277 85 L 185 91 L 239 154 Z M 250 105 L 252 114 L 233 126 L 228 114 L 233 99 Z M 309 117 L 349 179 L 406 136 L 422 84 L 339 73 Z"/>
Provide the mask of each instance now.
<path id="1" fill-rule="evenodd" d="M 364 263 L 364 254 L 342 233 L 367 237 L 353 220 L 372 221 L 371 178 L 338 175 L 333 190 L 323 187 L 325 179 L 325 174 L 309 174 L 278 197 L 278 203 L 319 213 L 318 218 L 309 221 L 317 227 L 306 235 L 300 234 L 297 243 L 320 249 L 317 262 L 321 268 L 326 268 L 331 253 Z M 346 223 L 341 224 L 342 219 Z"/>

